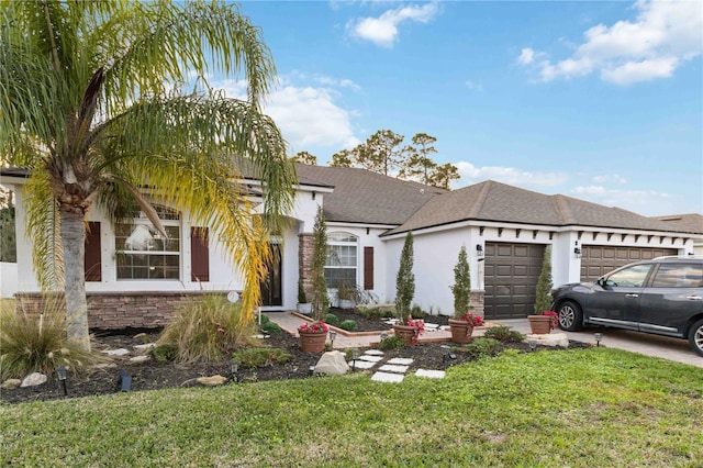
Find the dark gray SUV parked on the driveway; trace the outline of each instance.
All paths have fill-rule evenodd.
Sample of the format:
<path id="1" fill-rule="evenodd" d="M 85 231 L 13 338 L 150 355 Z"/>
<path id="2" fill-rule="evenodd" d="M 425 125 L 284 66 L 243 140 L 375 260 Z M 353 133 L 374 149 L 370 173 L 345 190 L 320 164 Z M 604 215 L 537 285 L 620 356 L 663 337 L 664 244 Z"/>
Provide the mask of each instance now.
<path id="1" fill-rule="evenodd" d="M 660 257 L 625 265 L 593 282 L 551 291 L 559 326 L 584 324 L 688 338 L 703 356 L 703 258 Z"/>

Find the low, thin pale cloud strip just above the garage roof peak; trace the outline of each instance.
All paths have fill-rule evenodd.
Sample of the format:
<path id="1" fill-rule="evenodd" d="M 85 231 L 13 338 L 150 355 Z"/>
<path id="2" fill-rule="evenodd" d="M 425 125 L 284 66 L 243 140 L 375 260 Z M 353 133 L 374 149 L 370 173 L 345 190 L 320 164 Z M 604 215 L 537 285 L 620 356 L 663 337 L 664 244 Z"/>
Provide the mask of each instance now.
<path id="1" fill-rule="evenodd" d="M 539 172 L 501 166 L 476 167 L 467 161 L 459 161 L 454 165 L 459 169 L 459 176 L 461 177 L 457 182 L 457 187 L 465 187 L 483 180 L 495 180 L 511 186 L 544 189 L 545 187 L 561 185 L 568 179 L 568 176 L 562 172 Z"/>

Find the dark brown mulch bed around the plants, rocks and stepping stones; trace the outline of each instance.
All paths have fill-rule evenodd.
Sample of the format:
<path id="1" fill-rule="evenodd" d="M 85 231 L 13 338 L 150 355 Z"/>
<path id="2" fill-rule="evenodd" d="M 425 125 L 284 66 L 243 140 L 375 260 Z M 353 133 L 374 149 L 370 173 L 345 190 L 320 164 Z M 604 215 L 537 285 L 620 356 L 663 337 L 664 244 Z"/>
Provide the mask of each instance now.
<path id="1" fill-rule="evenodd" d="M 377 325 L 380 322 L 379 320 L 368 321 L 353 311 L 333 310 L 333 313 L 341 320 L 356 320 L 360 331 L 371 326 L 375 327 L 371 330 L 366 328 L 366 331 L 379 330 Z M 444 319 L 446 320 L 446 317 Z M 429 321 L 432 319 L 427 320 Z M 440 322 L 442 317 L 435 320 Z M 116 333 L 98 332 L 96 333 L 93 348 L 100 350 L 126 348 L 132 350 L 135 345 L 149 341 L 149 337 L 156 339 L 159 331 L 147 332 L 153 336 L 144 336 L 143 332 L 144 331 L 138 330 L 126 330 Z M 320 355 L 301 352 L 298 338 L 284 332 L 261 339 L 261 345 L 281 348 L 290 354 L 290 359 L 284 364 L 270 365 L 257 369 L 239 369 L 239 385 L 266 380 L 309 378 L 311 364 L 314 365 L 320 358 Z M 388 350 L 386 352 L 386 356 L 389 358 L 413 358 L 414 363 L 410 366 L 410 371 L 417 368 L 444 370 L 449 366 L 473 360 L 473 358 L 467 354 L 450 353 L 449 345 L 450 343 L 448 342 L 421 343 L 414 347 Z M 528 346 L 524 343 L 506 344 L 503 345 L 503 347 L 528 352 Z M 587 345 L 580 342 L 571 342 L 570 347 L 587 347 Z M 545 349 L 551 350 L 559 348 Z M 453 354 L 455 357 L 450 358 L 449 354 Z M 132 356 L 134 356 L 134 353 Z M 115 393 L 119 391 L 119 370 L 124 370 L 132 377 L 131 391 L 197 386 L 198 383 L 194 379 L 198 377 L 214 375 L 231 377 L 231 364 L 228 359 L 209 364 L 159 364 L 154 359 L 149 359 L 145 363 L 133 364 L 129 361 L 129 357 L 131 356 L 115 357 L 113 367 L 96 369 L 90 374 L 69 375 L 67 381 L 68 397 L 64 397 L 63 389 L 56 381 L 55 376 L 48 376 L 49 380 L 41 386 L 1 390 L 0 404 Z"/>

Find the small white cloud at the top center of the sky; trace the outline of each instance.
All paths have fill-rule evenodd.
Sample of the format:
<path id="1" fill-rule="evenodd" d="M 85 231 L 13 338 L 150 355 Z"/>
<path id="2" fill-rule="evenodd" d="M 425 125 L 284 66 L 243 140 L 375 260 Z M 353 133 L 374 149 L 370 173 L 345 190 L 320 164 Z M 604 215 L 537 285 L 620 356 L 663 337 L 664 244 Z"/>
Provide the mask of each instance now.
<path id="1" fill-rule="evenodd" d="M 398 40 L 398 25 L 402 22 L 414 21 L 428 23 L 439 12 L 437 2 L 425 3 L 421 7 L 401 7 L 388 10 L 378 18 L 360 18 L 347 23 L 348 33 L 376 45 L 392 47 Z"/>

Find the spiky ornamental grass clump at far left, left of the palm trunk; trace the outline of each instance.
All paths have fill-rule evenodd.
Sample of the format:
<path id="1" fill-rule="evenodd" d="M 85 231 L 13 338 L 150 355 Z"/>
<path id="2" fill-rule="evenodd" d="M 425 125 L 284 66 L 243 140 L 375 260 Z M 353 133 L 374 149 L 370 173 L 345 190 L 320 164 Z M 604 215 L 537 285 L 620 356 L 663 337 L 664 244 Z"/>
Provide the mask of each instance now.
<path id="1" fill-rule="evenodd" d="M 32 372 L 51 375 L 65 366 L 78 372 L 107 361 L 104 355 L 86 352 L 66 335 L 66 312 L 56 301 L 40 311 L 18 302 L 16 310 L 0 308 L 0 377 L 24 378 Z"/>

